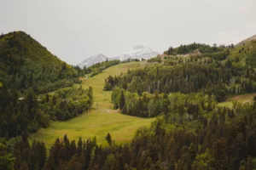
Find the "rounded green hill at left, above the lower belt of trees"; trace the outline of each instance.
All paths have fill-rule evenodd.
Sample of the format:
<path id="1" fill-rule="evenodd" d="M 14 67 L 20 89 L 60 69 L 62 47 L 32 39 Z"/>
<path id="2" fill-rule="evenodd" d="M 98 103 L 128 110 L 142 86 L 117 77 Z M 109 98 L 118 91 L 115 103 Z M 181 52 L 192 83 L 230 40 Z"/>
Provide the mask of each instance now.
<path id="1" fill-rule="evenodd" d="M 58 88 L 65 86 L 66 82 L 61 81 L 76 75 L 71 65 L 51 54 L 24 31 L 0 36 L 0 82 L 3 84 L 18 90 L 32 87 L 43 92 L 52 89 L 56 82 Z M 49 84 L 51 88 L 46 86 Z"/>

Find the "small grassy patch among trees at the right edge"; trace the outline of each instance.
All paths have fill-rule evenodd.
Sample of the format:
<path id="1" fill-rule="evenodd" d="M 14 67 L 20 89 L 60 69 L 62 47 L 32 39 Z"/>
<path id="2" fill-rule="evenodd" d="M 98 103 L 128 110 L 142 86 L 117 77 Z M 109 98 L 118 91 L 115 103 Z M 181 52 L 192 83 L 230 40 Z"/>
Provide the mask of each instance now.
<path id="1" fill-rule="evenodd" d="M 254 96 L 256 96 L 256 93 L 236 95 L 236 96 L 228 98 L 225 102 L 221 102 L 218 105 L 232 107 L 234 101 L 245 104 L 245 103 L 252 102 Z"/>

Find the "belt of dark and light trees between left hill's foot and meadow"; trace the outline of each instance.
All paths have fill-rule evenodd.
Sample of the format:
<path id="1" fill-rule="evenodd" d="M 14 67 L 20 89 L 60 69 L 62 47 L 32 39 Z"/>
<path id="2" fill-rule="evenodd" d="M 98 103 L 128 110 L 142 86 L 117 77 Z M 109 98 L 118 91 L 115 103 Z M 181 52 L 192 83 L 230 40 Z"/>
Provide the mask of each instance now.
<path id="1" fill-rule="evenodd" d="M 49 120 L 64 121 L 88 111 L 92 105 L 92 88 L 67 88 L 52 97 L 38 97 L 30 88 L 24 97 L 5 85 L 0 88 L 0 136 L 17 137 L 22 131 L 36 132 Z"/>

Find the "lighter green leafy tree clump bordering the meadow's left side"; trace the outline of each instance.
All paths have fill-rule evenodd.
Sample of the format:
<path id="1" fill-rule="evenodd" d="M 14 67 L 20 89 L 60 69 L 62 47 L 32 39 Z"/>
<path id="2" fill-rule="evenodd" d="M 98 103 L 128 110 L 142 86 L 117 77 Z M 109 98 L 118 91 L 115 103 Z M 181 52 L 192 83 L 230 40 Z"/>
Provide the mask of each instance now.
<path id="1" fill-rule="evenodd" d="M 64 88 L 54 95 L 44 95 L 40 108 L 48 113 L 50 119 L 65 121 L 84 111 L 89 111 L 93 103 L 92 88 Z"/>

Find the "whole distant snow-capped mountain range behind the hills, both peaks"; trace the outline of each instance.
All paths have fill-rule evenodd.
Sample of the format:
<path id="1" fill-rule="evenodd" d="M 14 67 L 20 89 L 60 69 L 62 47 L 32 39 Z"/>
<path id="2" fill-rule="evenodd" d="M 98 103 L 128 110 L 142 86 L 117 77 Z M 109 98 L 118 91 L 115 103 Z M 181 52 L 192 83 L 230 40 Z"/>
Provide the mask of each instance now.
<path id="1" fill-rule="evenodd" d="M 97 54 L 94 56 L 91 56 L 88 59 L 84 59 L 81 63 L 79 63 L 79 66 L 83 68 L 84 66 L 89 67 L 91 65 L 94 65 L 96 63 L 101 63 L 103 61 L 113 60 L 113 59 L 119 59 L 119 60 L 125 60 L 125 59 L 151 59 L 158 55 L 159 53 L 152 50 L 151 48 L 144 47 L 143 45 L 137 45 L 134 48 L 132 48 L 130 51 L 124 52 L 122 54 L 119 54 L 118 56 L 114 57 L 107 57 L 104 54 Z"/>

